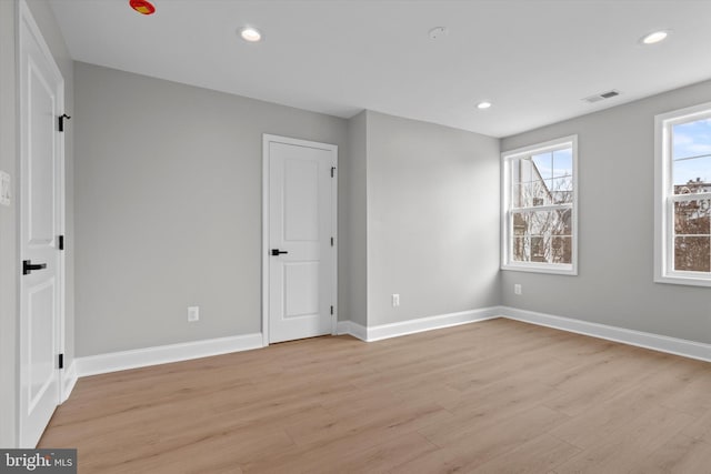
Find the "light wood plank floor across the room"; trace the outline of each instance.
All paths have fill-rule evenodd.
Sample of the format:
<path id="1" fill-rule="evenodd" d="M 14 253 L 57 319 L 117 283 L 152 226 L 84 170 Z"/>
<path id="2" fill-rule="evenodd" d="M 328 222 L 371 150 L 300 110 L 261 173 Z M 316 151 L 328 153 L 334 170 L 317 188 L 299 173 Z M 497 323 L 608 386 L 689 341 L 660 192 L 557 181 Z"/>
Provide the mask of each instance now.
<path id="1" fill-rule="evenodd" d="M 80 473 L 711 473 L 711 363 L 509 320 L 81 379 Z"/>

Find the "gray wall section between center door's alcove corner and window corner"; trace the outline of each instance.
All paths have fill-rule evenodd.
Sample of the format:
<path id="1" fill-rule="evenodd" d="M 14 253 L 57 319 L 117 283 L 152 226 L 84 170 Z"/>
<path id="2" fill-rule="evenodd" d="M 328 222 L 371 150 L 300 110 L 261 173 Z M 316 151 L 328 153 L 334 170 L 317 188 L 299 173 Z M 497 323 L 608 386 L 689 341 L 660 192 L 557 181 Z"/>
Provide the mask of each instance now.
<path id="1" fill-rule="evenodd" d="M 499 140 L 371 111 L 367 129 L 368 325 L 499 304 Z"/>

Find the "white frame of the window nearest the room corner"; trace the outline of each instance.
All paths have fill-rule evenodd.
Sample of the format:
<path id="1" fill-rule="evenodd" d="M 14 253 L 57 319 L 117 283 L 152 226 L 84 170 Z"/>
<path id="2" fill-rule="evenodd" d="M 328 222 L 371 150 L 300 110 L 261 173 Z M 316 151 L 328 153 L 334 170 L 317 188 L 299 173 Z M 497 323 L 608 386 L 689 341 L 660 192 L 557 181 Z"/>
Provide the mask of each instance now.
<path id="1" fill-rule="evenodd" d="M 572 149 L 573 167 L 573 202 L 568 205 L 572 210 L 572 254 L 571 263 L 541 263 L 517 262 L 511 259 L 512 209 L 511 209 L 511 162 L 518 158 L 534 155 L 570 148 Z M 501 153 L 501 270 L 514 270 L 520 272 L 552 273 L 559 275 L 578 274 L 578 135 L 569 135 L 560 139 L 519 148 Z M 544 205 L 541 211 L 559 209 L 561 205 Z"/>

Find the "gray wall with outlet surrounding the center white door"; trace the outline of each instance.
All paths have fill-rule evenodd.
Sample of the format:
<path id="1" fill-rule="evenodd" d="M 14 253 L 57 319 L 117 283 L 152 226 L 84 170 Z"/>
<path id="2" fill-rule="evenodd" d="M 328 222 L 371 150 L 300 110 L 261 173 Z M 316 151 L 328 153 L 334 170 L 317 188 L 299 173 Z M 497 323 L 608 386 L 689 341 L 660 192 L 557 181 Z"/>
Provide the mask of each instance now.
<path id="1" fill-rule="evenodd" d="M 347 121 L 84 63 L 74 80 L 77 354 L 260 332 L 262 133 L 343 163 Z"/>

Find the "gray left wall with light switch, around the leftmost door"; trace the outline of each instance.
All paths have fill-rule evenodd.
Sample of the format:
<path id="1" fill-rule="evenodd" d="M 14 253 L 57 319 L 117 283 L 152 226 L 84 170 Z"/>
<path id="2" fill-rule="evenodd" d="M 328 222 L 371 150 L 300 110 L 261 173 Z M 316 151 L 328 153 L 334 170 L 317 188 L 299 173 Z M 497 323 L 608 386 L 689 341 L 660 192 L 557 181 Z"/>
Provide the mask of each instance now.
<path id="1" fill-rule="evenodd" d="M 64 78 L 66 109 L 73 109 L 72 61 L 54 16 L 44 1 L 28 1 L 30 11 L 37 21 L 51 53 Z M 17 3 L 0 1 L 0 170 L 12 177 L 12 205 L 0 206 L 0 446 L 17 445 L 17 392 L 18 392 L 18 312 L 20 254 L 18 252 L 19 206 L 17 198 L 19 148 L 17 129 L 17 57 L 16 57 Z M 67 174 L 67 235 L 69 236 L 67 256 L 67 307 L 66 307 L 66 356 L 68 363 L 73 359 L 73 246 L 71 241 L 73 222 L 72 163 L 73 133 L 71 127 L 66 135 Z"/>

